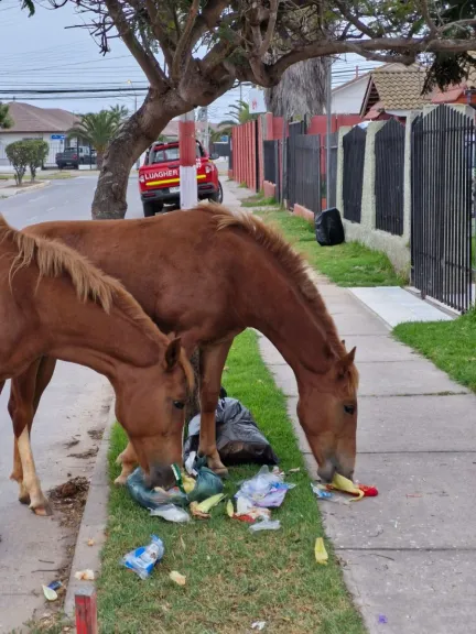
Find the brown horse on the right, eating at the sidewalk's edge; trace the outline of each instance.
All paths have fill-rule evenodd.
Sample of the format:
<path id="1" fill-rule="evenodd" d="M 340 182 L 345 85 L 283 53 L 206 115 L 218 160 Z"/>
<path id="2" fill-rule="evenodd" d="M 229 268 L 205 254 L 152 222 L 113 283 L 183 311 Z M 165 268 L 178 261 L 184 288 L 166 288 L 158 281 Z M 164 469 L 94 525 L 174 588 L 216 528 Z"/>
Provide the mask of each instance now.
<path id="1" fill-rule="evenodd" d="M 356 452 L 355 350 L 346 353 L 303 260 L 279 233 L 250 215 L 204 206 L 161 217 L 47 222 L 29 233 L 61 239 L 117 276 L 188 354 L 201 349 L 199 451 L 226 472 L 215 441 L 215 409 L 232 339 L 253 327 L 267 336 L 298 380 L 298 414 L 324 479 L 351 477 Z M 47 361 L 48 374 L 54 360 Z M 18 380 L 25 398 L 32 369 Z M 36 398 L 47 381 L 40 381 Z M 134 455 L 122 453 L 122 482 Z"/>

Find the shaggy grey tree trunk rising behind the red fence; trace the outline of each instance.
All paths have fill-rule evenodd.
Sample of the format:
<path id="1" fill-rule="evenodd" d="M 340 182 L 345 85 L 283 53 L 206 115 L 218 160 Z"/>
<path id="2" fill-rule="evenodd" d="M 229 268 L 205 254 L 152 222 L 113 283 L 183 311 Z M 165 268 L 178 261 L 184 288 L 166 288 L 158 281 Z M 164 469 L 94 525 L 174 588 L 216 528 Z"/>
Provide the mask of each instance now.
<path id="1" fill-rule="evenodd" d="M 267 108 L 274 117 L 322 114 L 326 97 L 328 62 L 325 57 L 290 66 L 274 88 L 264 91 Z"/>

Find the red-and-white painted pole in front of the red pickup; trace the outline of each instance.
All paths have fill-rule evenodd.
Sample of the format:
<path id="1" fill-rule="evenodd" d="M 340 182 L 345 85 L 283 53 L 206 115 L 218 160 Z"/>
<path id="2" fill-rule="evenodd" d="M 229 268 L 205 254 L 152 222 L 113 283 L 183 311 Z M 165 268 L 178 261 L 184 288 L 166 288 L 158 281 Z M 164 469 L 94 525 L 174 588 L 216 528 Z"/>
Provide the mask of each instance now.
<path id="1" fill-rule="evenodd" d="M 196 179 L 195 112 L 182 114 L 178 121 L 181 209 L 198 204 Z"/>

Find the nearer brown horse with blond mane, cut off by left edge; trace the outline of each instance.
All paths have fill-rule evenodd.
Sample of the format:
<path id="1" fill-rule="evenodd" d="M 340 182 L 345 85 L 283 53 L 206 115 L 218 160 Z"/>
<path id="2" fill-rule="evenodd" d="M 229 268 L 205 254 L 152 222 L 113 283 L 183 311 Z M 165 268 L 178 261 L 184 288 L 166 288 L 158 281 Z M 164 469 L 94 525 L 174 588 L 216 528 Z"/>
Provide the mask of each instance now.
<path id="1" fill-rule="evenodd" d="M 50 356 L 109 379 L 118 419 L 147 471 L 166 473 L 165 466 L 182 459 L 183 405 L 193 376 L 180 339 L 170 341 L 119 282 L 77 252 L 17 231 L 1 216 L 0 323 L 0 392 L 7 379 L 23 372 L 34 371 L 40 380 L 19 394 L 13 379 L 10 401 L 12 478 L 21 502 L 35 513 L 50 513 L 29 434 L 39 395 L 51 379 L 43 368 Z"/>

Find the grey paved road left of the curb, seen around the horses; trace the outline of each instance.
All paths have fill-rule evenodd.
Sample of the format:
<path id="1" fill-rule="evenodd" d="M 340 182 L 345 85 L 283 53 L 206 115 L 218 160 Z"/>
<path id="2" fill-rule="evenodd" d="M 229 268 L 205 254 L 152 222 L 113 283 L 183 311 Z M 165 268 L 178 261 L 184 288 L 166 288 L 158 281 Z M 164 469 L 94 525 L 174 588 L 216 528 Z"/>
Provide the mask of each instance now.
<path id="1" fill-rule="evenodd" d="M 45 220 L 90 218 L 90 201 L 96 178 L 79 176 L 53 181 L 44 189 L 0 199 L 0 214 L 14 227 Z M 137 183 L 131 179 L 130 215 L 140 215 Z M 72 531 L 61 526 L 55 515 L 36 517 L 17 501 L 18 488 L 9 481 L 12 468 L 11 420 L 7 412 L 9 386 L 0 396 L 0 633 L 19 628 L 48 612 L 42 583 L 57 578 L 65 564 L 67 547 L 74 543 Z M 78 459 L 97 445 L 88 430 L 104 427 L 111 390 L 106 380 L 87 368 L 60 363 L 52 384 L 42 400 L 32 434 L 32 446 L 43 490 L 68 477 L 91 473 L 95 458 Z M 78 440 L 74 448 L 66 444 Z M 43 571 L 45 570 L 45 571 Z M 46 571 L 50 570 L 50 571 Z"/>

